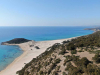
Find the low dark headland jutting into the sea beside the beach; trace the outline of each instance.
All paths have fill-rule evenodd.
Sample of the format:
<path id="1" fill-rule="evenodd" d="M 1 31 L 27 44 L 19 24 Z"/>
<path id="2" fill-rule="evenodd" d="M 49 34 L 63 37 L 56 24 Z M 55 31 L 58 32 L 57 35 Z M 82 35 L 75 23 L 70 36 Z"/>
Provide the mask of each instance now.
<path id="1" fill-rule="evenodd" d="M 28 42 L 28 41 L 31 41 L 31 40 L 27 40 L 27 39 L 24 39 L 24 38 L 15 38 L 15 39 L 12 39 L 10 41 L 2 42 L 1 45 L 20 44 L 20 43 L 24 43 L 24 42 Z"/>

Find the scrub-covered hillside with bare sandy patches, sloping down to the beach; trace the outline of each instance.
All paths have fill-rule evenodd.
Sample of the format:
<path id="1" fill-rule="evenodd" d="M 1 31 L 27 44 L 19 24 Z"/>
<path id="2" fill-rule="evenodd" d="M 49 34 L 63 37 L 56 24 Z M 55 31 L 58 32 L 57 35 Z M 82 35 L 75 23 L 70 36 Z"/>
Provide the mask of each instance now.
<path id="1" fill-rule="evenodd" d="M 56 43 L 27 63 L 18 75 L 100 75 L 100 31 Z"/>

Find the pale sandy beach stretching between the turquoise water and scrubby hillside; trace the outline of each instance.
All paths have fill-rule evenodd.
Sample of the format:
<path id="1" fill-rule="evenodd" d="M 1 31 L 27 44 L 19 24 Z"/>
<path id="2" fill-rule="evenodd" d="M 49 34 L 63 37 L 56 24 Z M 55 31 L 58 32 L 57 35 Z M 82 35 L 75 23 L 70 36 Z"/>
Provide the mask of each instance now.
<path id="1" fill-rule="evenodd" d="M 40 41 L 36 42 L 35 44 L 32 43 L 33 41 L 30 41 L 22 44 L 17 44 L 24 51 L 23 54 L 18 58 L 16 58 L 4 70 L 2 70 L 0 72 L 0 75 L 17 75 L 16 71 L 21 70 L 22 67 L 24 67 L 25 63 L 30 62 L 33 58 L 43 53 L 48 47 L 52 46 L 55 43 L 61 43 L 64 40 L 71 40 L 71 39 L 72 38 L 52 40 L 52 41 Z M 34 46 L 30 47 L 30 45 L 38 46 L 40 49 L 36 49 Z"/>

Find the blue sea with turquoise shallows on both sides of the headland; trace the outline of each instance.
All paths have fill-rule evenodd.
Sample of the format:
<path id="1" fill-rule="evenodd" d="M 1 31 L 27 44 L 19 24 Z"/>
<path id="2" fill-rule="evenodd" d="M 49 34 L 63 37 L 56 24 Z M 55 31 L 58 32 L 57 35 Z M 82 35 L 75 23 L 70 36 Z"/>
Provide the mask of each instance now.
<path id="1" fill-rule="evenodd" d="M 93 33 L 83 30 L 90 27 L 0 27 L 0 43 L 14 38 L 26 38 L 35 41 L 46 41 L 83 36 Z M 9 65 L 23 51 L 18 46 L 0 45 L 0 70 Z"/>

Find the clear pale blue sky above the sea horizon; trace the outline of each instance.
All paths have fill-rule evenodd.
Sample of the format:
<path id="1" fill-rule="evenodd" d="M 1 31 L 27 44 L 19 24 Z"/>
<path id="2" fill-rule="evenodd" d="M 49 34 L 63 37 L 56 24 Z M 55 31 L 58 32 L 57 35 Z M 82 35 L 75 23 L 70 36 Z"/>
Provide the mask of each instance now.
<path id="1" fill-rule="evenodd" d="M 100 0 L 0 0 L 0 26 L 96 25 Z"/>

